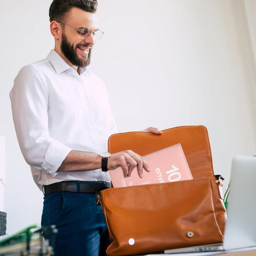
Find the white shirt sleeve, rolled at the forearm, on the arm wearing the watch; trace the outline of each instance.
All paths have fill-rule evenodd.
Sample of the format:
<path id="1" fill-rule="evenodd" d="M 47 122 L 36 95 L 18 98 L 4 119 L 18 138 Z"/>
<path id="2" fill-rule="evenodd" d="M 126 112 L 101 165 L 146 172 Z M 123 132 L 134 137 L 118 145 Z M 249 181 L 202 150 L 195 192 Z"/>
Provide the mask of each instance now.
<path id="1" fill-rule="evenodd" d="M 10 92 L 13 122 L 26 162 L 52 176 L 71 148 L 54 140 L 48 129 L 46 78 L 32 66 L 23 67 Z"/>

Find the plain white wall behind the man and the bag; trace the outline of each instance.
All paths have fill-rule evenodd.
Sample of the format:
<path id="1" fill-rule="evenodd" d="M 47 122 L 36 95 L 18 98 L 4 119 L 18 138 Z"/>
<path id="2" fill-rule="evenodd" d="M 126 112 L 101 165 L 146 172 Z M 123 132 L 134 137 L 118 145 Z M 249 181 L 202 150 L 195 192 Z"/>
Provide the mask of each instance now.
<path id="1" fill-rule="evenodd" d="M 256 152 L 255 59 L 246 10 L 252 0 L 99 0 L 91 70 L 106 82 L 120 132 L 202 124 L 215 173 L 229 181 L 231 158 Z M 0 10 L 0 135 L 6 138 L 7 232 L 39 223 L 43 196 L 22 158 L 9 91 L 18 70 L 53 47 L 51 0 L 5 1 Z M 254 42 L 255 43 L 255 42 Z"/>

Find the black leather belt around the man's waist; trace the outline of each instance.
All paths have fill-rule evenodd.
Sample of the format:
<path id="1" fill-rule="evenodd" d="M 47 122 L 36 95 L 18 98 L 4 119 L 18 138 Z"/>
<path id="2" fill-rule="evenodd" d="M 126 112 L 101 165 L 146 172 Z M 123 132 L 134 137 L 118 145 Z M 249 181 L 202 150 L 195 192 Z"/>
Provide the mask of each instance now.
<path id="1" fill-rule="evenodd" d="M 50 185 L 43 185 L 44 195 L 55 192 L 95 193 L 95 199 L 99 204 L 100 190 L 111 188 L 111 182 L 105 181 L 61 181 Z"/>

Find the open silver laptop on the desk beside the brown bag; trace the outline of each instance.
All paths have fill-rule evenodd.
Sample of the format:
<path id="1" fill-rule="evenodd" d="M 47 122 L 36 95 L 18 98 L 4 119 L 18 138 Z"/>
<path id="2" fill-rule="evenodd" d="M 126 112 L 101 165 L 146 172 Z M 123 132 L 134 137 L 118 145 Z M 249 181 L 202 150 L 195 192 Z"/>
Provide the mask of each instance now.
<path id="1" fill-rule="evenodd" d="M 255 197 L 256 156 L 235 156 L 223 243 L 165 250 L 164 253 L 214 252 L 256 246 Z"/>

